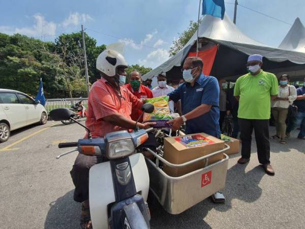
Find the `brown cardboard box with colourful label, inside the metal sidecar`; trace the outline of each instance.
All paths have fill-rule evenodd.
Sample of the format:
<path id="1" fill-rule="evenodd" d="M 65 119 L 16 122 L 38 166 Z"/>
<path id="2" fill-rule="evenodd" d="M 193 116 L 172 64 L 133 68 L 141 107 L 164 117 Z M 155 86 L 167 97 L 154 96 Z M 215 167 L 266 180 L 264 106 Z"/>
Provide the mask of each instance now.
<path id="1" fill-rule="evenodd" d="M 163 157 L 173 164 L 182 164 L 225 148 L 225 142 L 205 133 L 188 134 L 164 138 Z M 208 158 L 208 164 L 223 159 L 223 154 Z M 179 177 L 191 171 L 203 168 L 205 160 L 181 168 L 172 168 L 163 164 L 163 170 L 171 177 Z"/>

